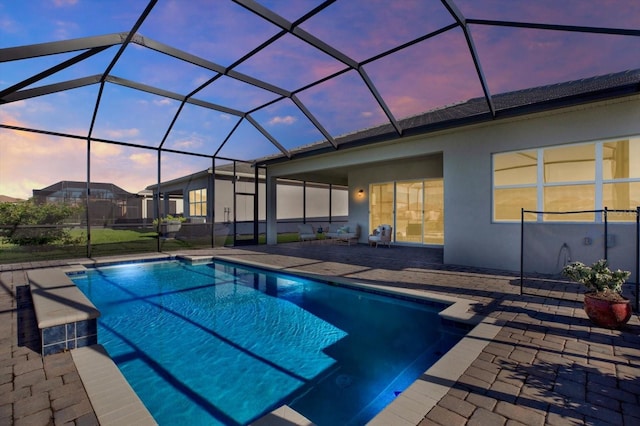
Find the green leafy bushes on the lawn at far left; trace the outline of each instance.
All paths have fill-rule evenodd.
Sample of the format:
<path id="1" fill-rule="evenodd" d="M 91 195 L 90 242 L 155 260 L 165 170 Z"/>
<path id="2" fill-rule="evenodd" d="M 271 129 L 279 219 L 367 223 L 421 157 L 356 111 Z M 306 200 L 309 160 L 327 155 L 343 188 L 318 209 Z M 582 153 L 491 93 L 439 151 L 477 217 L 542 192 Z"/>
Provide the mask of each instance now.
<path id="1" fill-rule="evenodd" d="M 69 231 L 60 225 L 81 210 L 58 203 L 36 204 L 32 199 L 0 203 L 0 238 L 22 246 L 69 242 L 72 240 Z"/>

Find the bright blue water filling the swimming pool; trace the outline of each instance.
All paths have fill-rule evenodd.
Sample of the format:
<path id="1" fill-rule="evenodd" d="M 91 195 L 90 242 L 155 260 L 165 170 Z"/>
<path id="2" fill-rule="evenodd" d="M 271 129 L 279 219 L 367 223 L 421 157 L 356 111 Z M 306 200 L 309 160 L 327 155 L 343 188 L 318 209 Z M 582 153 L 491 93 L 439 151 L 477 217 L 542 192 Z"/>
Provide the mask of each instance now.
<path id="1" fill-rule="evenodd" d="M 244 425 L 288 404 L 364 424 L 462 337 L 443 308 L 230 263 L 72 276 L 98 340 L 161 425 Z"/>

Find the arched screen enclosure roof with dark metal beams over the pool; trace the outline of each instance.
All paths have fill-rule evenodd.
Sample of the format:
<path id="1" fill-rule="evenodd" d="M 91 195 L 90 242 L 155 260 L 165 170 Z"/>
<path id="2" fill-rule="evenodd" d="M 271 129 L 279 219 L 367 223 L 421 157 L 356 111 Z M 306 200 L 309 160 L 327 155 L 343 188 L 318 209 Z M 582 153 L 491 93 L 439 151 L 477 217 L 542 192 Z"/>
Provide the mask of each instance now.
<path id="1" fill-rule="evenodd" d="M 196 156 L 495 119 L 566 82 L 575 102 L 640 91 L 636 0 L 5 1 L 0 16 L 1 128 Z"/>

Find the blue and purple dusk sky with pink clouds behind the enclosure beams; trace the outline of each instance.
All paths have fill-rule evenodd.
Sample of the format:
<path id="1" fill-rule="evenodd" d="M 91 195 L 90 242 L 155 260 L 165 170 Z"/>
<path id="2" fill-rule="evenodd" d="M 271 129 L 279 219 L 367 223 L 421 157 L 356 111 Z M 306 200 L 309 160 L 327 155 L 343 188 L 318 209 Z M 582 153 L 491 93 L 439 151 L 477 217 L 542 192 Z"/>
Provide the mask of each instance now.
<path id="1" fill-rule="evenodd" d="M 322 4 L 312 0 L 260 1 L 286 21 L 296 21 Z M 467 19 L 546 23 L 615 29 L 640 28 L 637 0 L 455 0 Z M 147 7 L 145 0 L 0 0 L 0 49 L 127 33 Z M 373 61 L 396 46 L 454 24 L 440 0 L 337 0 L 300 28 L 333 46 L 363 69 L 394 118 L 399 120 L 483 96 L 463 31 L 445 31 Z M 585 34 L 470 24 L 491 94 L 640 68 L 640 37 Z M 297 91 L 347 66 L 286 34 L 262 51 L 248 52 L 279 28 L 228 0 L 159 0 L 138 35 L 231 67 L 286 91 Z M 82 62 L 27 86 L 46 86 L 102 75 L 120 49 L 116 44 Z M 81 52 L 7 61 L 0 50 L 0 91 Z M 180 61 L 140 44 L 124 50 L 110 75 L 185 96 L 216 72 Z M 75 135 L 85 140 L 0 128 L 0 195 L 29 198 L 61 180 L 87 179 L 86 137 L 100 84 L 0 104 L 0 124 Z M 337 137 L 387 123 L 361 76 L 349 70 L 297 93 L 324 128 Z M 222 76 L 194 98 L 251 112 L 285 149 L 322 141 L 324 136 L 285 98 L 252 112 L 279 95 Z M 93 129 L 91 180 L 137 192 L 157 179 L 157 148 L 180 101 L 107 82 Z M 234 126 L 219 155 L 252 160 L 279 149 L 240 117 L 187 104 L 163 147 L 213 155 Z M 162 180 L 206 169 L 210 158 L 162 154 Z"/>

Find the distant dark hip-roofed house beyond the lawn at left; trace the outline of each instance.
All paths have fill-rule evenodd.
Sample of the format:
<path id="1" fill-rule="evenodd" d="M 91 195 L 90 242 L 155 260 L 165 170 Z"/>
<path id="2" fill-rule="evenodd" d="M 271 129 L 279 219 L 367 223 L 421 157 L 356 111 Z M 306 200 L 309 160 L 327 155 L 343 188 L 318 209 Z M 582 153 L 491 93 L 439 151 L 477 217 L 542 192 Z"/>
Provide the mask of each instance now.
<path id="1" fill-rule="evenodd" d="M 89 210 L 94 225 L 140 222 L 143 218 L 142 198 L 112 183 L 91 182 Z M 36 203 L 64 203 L 87 206 L 86 182 L 60 181 L 43 189 L 34 189 Z M 86 221 L 86 216 L 77 218 Z"/>

